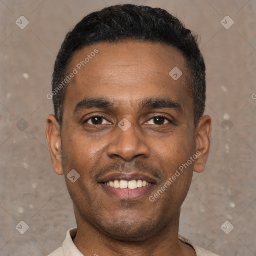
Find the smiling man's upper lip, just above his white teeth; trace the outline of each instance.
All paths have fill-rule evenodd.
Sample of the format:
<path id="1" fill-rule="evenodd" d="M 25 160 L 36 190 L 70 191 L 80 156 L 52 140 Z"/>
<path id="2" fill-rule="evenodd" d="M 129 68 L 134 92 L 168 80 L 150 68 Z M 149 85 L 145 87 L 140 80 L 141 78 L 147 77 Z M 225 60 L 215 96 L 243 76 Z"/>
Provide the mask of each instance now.
<path id="1" fill-rule="evenodd" d="M 115 172 L 115 173 L 108 173 L 107 175 L 100 177 L 98 179 L 98 183 L 106 183 L 111 180 L 145 180 L 148 183 L 156 183 L 157 178 L 150 175 L 150 174 L 141 174 L 137 172 Z"/>

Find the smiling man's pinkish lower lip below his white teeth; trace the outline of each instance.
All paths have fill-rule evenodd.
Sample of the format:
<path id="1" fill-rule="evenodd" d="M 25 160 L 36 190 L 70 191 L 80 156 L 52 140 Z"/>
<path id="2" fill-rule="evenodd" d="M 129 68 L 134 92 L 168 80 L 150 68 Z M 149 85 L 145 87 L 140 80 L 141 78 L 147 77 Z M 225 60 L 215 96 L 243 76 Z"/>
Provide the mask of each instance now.
<path id="1" fill-rule="evenodd" d="M 155 184 L 151 184 L 150 186 L 142 186 L 135 189 L 114 188 L 103 183 L 100 183 L 100 185 L 104 191 L 118 199 L 133 200 L 145 196 L 154 188 Z"/>

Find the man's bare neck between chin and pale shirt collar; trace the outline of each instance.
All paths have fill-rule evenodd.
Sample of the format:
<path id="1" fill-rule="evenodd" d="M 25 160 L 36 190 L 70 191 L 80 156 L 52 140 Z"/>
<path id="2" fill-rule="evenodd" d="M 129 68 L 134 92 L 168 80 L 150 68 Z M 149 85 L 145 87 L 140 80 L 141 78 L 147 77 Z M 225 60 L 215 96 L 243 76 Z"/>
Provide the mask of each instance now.
<path id="1" fill-rule="evenodd" d="M 196 255 L 194 249 L 178 240 L 180 210 L 159 232 L 146 238 L 123 241 L 111 237 L 92 226 L 75 209 L 77 233 L 73 242 L 84 255 L 104 256 L 185 256 Z"/>

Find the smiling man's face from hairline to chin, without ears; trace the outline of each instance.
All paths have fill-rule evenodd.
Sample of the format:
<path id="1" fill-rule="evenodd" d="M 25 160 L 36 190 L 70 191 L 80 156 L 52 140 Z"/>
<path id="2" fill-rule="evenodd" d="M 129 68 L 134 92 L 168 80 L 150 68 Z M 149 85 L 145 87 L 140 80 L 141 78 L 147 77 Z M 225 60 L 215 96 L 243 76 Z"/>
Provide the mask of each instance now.
<path id="1" fill-rule="evenodd" d="M 177 80 L 169 75 L 174 67 L 183 73 Z M 192 178 L 194 162 L 149 200 L 196 153 L 185 58 L 161 43 L 98 43 L 77 51 L 73 68 L 61 148 L 65 177 L 80 174 L 74 183 L 66 178 L 76 217 L 115 238 L 143 239 L 179 215 Z M 131 180 L 132 189 L 112 187 Z"/>

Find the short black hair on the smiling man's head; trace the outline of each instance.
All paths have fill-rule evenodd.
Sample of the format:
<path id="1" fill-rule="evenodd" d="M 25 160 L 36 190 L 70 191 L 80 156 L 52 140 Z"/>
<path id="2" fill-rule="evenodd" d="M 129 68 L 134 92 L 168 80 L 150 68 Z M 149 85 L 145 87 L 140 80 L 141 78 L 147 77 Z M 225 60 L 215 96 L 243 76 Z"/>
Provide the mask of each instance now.
<path id="1" fill-rule="evenodd" d="M 60 127 L 66 86 L 59 89 L 59 85 L 63 84 L 74 53 L 94 43 L 125 39 L 162 42 L 180 50 L 190 70 L 188 86 L 194 99 L 194 124 L 197 126 L 204 112 L 206 90 L 205 64 L 197 45 L 197 36 L 164 9 L 122 4 L 90 13 L 66 34 L 52 75 L 54 113 Z"/>

